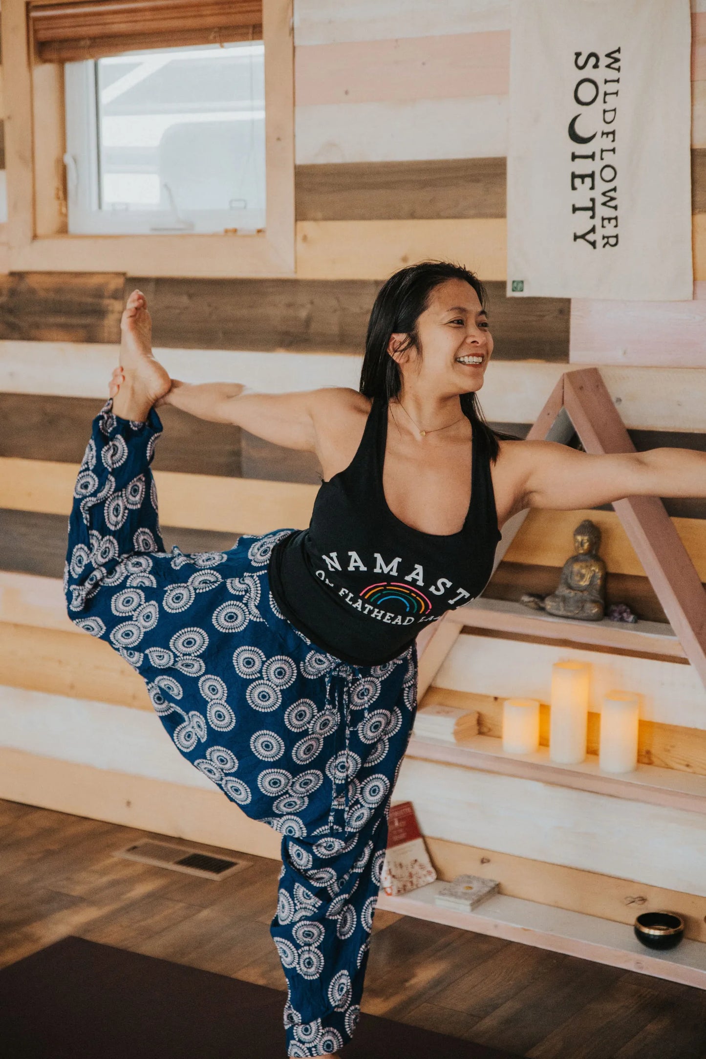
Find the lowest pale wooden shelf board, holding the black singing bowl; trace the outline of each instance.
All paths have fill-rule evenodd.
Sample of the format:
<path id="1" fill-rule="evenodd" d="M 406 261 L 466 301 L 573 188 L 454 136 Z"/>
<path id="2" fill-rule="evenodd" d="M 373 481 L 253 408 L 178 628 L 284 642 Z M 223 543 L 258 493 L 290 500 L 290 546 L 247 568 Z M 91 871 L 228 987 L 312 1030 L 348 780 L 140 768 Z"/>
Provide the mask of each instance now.
<path id="1" fill-rule="evenodd" d="M 401 897 L 381 891 L 378 908 L 706 989 L 703 941 L 684 938 L 675 949 L 657 952 L 640 945 L 626 923 L 504 894 L 495 894 L 473 912 L 454 912 L 434 904 L 442 885 L 437 880 Z"/>

